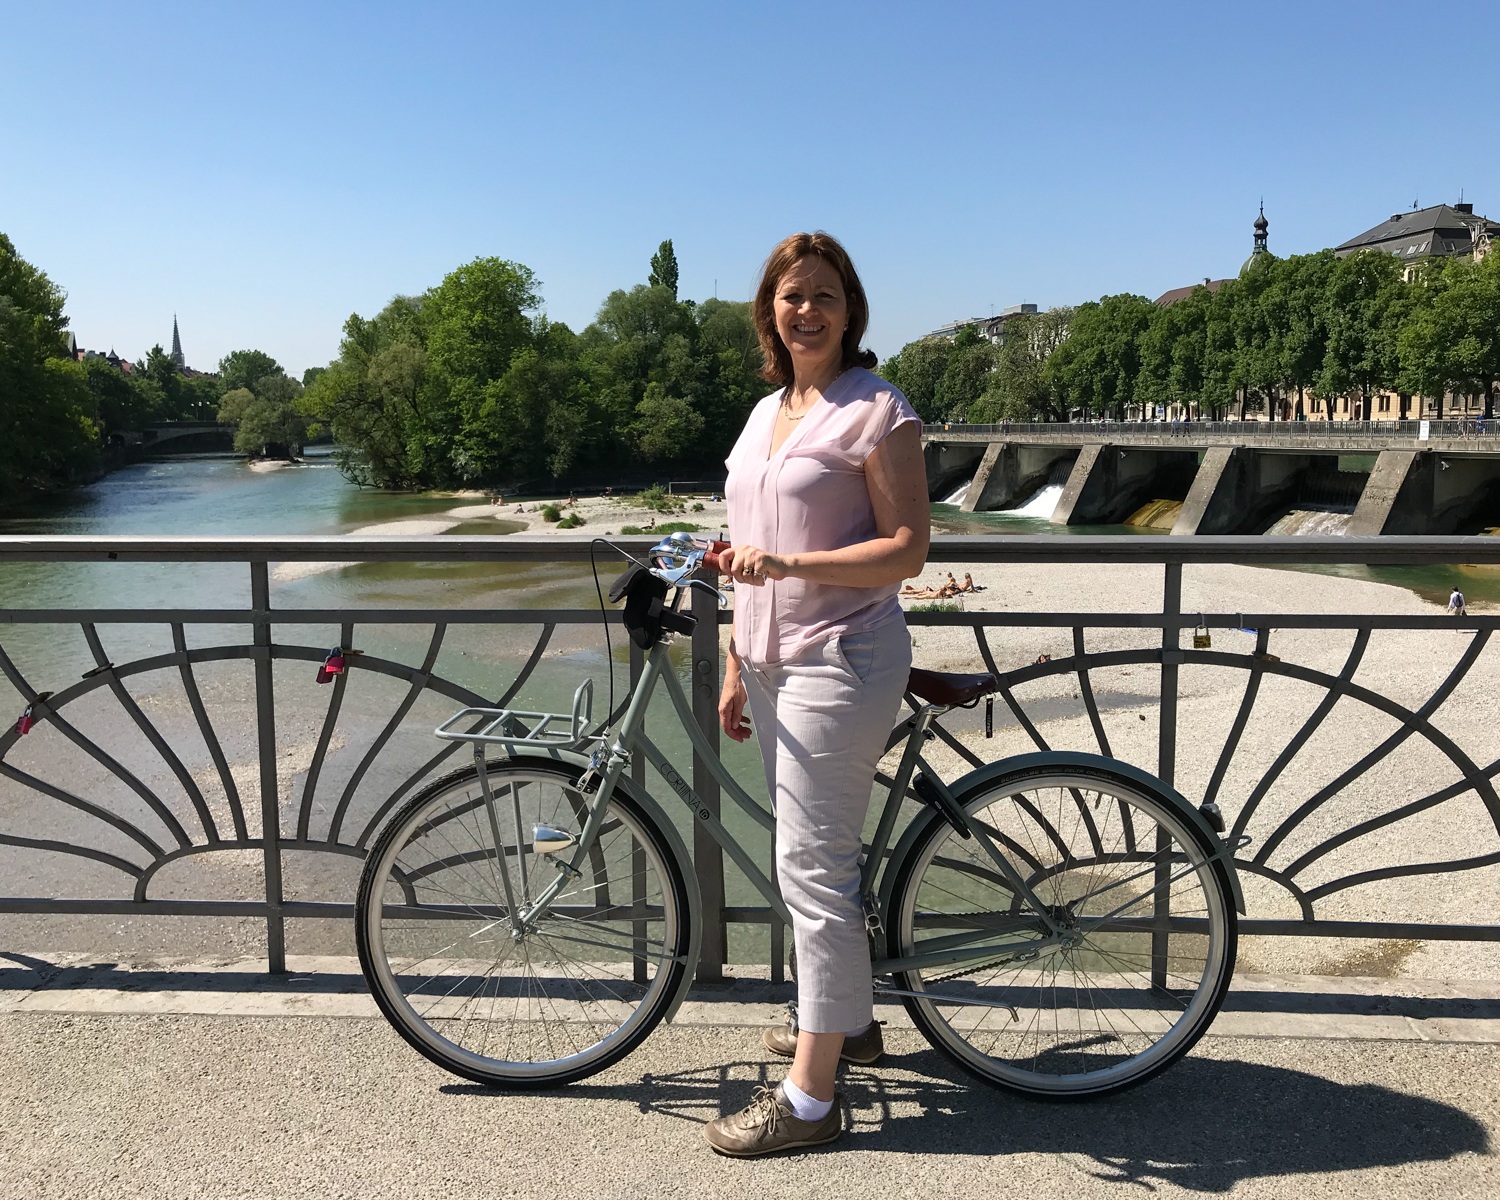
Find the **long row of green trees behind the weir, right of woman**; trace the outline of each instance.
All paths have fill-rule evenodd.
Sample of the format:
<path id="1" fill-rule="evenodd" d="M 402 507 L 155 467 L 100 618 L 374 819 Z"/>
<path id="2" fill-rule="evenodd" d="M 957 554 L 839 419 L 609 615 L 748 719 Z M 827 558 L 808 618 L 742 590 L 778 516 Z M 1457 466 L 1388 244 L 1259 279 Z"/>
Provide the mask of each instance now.
<path id="1" fill-rule="evenodd" d="M 884 372 L 926 420 L 1125 418 L 1176 410 L 1221 418 L 1390 417 L 1430 398 L 1482 398 L 1500 380 L 1500 254 L 1407 267 L 1366 250 L 1256 255 L 1238 279 L 1158 308 L 1107 296 L 1005 321 L 999 344 L 966 327 L 902 348 Z M 1382 412 L 1382 416 L 1386 416 Z"/>

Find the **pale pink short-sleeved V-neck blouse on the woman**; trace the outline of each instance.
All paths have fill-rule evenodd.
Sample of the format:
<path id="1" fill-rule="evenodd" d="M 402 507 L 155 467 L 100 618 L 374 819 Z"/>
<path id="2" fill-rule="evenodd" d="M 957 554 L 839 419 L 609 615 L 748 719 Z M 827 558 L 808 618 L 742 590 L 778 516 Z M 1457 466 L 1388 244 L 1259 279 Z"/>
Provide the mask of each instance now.
<path id="1" fill-rule="evenodd" d="M 782 392 L 750 412 L 724 460 L 729 540 L 771 554 L 837 550 L 878 537 L 864 464 L 897 426 L 920 423 L 879 375 L 850 368 L 771 453 Z M 900 621 L 897 584 L 844 588 L 768 579 L 735 588 L 735 650 L 752 663 L 789 663 L 837 634 Z"/>

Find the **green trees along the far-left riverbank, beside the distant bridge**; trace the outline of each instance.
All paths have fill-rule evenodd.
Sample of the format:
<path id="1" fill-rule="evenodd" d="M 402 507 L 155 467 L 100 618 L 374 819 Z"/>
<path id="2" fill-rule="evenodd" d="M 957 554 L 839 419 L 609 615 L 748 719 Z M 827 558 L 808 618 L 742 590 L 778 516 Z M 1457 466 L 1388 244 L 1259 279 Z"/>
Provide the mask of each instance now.
<path id="1" fill-rule="evenodd" d="M 266 453 L 300 446 L 308 420 L 302 384 L 267 354 L 242 350 L 218 375 L 182 372 L 162 346 L 134 369 L 78 360 L 66 296 L 0 234 L 0 500 L 90 478 L 111 441 L 166 420 L 225 420 L 236 447 Z"/>

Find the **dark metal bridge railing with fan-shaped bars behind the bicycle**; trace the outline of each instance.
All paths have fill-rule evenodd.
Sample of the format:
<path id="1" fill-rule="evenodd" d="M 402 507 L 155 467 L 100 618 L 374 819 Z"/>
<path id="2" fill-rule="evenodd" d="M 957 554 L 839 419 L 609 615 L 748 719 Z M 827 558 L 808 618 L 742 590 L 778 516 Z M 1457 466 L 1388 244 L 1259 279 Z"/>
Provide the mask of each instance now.
<path id="1" fill-rule="evenodd" d="M 639 550 L 646 540 L 620 543 Z M 3 570 L 210 564 L 243 596 L 232 603 L 226 586 L 219 608 L 136 608 L 122 597 L 0 610 L 0 672 L 15 711 L 30 714 L 28 732 L 21 723 L 0 735 L 0 914 L 254 916 L 266 922 L 270 969 L 284 969 L 290 920 L 352 915 L 346 872 L 312 872 L 290 890 L 288 856 L 357 867 L 404 798 L 460 765 L 448 760 L 453 744 L 430 736 L 434 717 L 525 699 L 542 686 L 549 648 L 576 654 L 572 634 L 597 627 L 600 614 L 522 603 L 296 609 L 273 604 L 272 566 L 498 570 L 582 567 L 588 555 L 586 540 L 560 537 L 0 538 Z M 1136 760 L 1194 802 L 1216 801 L 1239 844 L 1245 933 L 1500 940 L 1500 910 L 1484 902 L 1492 886 L 1466 890 L 1458 906 L 1407 904 L 1418 880 L 1500 864 L 1497 723 L 1474 710 L 1492 705 L 1500 616 L 1257 614 L 1227 596 L 1184 604 L 1185 570 L 1202 590 L 1192 573 L 1212 564 L 1500 567 L 1500 538 L 938 537 L 928 574 L 981 562 L 1023 567 L 1017 582 L 1086 562 L 1100 582 L 1080 597 L 1088 610 L 909 615 L 918 663 L 957 669 L 951 650 L 936 663 L 928 648 L 932 630 L 957 627 L 972 638 L 960 657 L 1002 681 L 993 741 L 978 735 L 975 714 L 948 722 L 942 736 L 957 762 L 1084 748 Z M 1134 591 L 1108 582 L 1116 567 L 1134 572 Z M 694 602 L 705 620 L 684 669 L 717 746 L 714 618 L 729 614 Z M 508 666 L 496 676 L 454 642 L 504 642 Z M 364 652 L 320 687 L 332 646 Z M 1422 669 L 1402 674 L 1412 663 Z M 292 732 L 310 747 L 298 762 L 286 760 Z M 710 783 L 694 764 L 696 790 L 717 807 Z M 696 842 L 705 912 L 720 918 L 710 921 L 700 974 L 716 978 L 724 930 L 771 918 L 726 900 L 717 846 Z M 246 852 L 258 861 L 254 897 L 236 872 L 220 884 L 195 876 L 202 894 L 164 888 L 174 864 L 243 866 Z"/>

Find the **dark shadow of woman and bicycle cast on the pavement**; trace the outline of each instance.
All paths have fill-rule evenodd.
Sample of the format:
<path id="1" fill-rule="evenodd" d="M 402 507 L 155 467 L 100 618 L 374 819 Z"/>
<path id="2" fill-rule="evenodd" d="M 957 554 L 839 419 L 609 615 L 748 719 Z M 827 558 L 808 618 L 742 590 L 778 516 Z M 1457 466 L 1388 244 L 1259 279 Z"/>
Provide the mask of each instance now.
<path id="1" fill-rule="evenodd" d="M 1328 1174 L 1488 1154 L 1490 1137 L 1449 1104 L 1282 1066 L 1185 1059 L 1161 1078 L 1107 1100 L 1047 1104 L 969 1083 L 936 1052 L 886 1054 L 885 1070 L 840 1080 L 848 1149 L 884 1154 L 1064 1155 L 1104 1184 L 1172 1184 L 1224 1192 L 1244 1179 Z M 639 1083 L 566 1089 L 700 1122 L 742 1107 L 780 1064 L 734 1062 Z M 450 1095 L 494 1095 L 447 1084 Z M 914 1112 L 915 1110 L 915 1112 Z"/>

